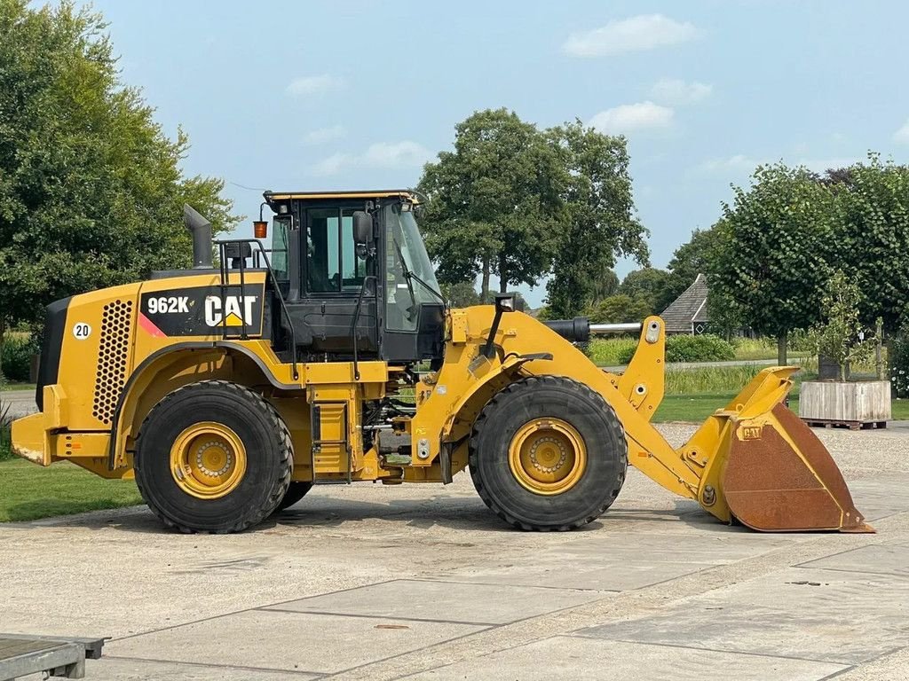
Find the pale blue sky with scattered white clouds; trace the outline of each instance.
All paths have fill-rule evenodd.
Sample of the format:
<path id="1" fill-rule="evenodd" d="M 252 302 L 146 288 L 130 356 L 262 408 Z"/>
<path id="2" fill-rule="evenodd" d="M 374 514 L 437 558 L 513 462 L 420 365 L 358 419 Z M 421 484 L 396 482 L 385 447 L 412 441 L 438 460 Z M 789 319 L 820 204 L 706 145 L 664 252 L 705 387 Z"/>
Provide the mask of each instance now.
<path id="1" fill-rule="evenodd" d="M 656 267 L 758 163 L 909 162 L 909 4 L 895 0 L 93 6 L 125 84 L 165 133 L 188 133 L 187 174 L 225 179 L 244 235 L 265 189 L 414 186 L 456 123 L 502 106 L 626 136 Z"/>

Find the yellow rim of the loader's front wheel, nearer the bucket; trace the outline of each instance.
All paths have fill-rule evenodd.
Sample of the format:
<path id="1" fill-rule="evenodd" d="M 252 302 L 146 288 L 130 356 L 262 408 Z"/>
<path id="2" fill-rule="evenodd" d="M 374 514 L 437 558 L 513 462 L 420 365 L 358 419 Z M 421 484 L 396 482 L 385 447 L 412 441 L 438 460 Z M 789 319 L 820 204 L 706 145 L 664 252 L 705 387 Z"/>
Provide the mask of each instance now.
<path id="1" fill-rule="evenodd" d="M 534 419 L 514 433 L 508 467 L 524 488 L 536 494 L 562 494 L 584 477 L 584 438 L 562 419 Z"/>

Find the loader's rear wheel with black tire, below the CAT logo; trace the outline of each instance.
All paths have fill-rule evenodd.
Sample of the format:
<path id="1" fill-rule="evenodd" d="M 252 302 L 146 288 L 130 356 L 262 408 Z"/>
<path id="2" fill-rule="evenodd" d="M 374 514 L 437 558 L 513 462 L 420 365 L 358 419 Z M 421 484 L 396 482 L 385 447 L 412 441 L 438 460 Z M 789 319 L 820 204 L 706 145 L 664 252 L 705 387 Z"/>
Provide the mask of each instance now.
<path id="1" fill-rule="evenodd" d="M 290 484 L 290 433 L 260 395 L 223 380 L 174 390 L 148 413 L 135 482 L 181 532 L 241 532 L 277 508 Z"/>

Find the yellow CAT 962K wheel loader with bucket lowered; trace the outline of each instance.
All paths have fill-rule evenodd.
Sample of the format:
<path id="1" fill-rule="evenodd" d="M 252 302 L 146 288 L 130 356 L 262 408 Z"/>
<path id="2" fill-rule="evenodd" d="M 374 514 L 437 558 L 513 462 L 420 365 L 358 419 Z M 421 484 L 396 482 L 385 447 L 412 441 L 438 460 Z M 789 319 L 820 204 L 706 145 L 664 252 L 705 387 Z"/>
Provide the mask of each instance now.
<path id="1" fill-rule="evenodd" d="M 761 371 L 683 447 L 650 421 L 663 321 L 536 321 L 514 296 L 450 309 L 407 191 L 265 192 L 256 239 L 216 243 L 188 206 L 195 267 L 50 305 L 36 400 L 13 448 L 131 478 L 166 526 L 237 532 L 314 485 L 452 481 L 516 528 L 613 503 L 628 464 L 725 523 L 873 531 L 821 442 Z M 274 213 L 271 248 L 262 239 Z M 577 349 L 640 331 L 621 375 Z"/>

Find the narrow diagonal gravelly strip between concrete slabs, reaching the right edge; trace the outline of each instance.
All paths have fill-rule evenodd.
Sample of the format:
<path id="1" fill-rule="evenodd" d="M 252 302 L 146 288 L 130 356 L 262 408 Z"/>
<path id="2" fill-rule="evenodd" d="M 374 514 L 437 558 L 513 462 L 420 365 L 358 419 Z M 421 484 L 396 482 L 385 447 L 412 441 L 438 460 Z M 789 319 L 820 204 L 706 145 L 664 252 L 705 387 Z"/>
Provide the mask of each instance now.
<path id="1" fill-rule="evenodd" d="M 808 562 L 812 559 L 824 558 L 829 554 L 830 548 L 832 546 L 835 547 L 837 544 L 846 545 L 850 548 L 859 548 L 875 543 L 874 538 L 879 539 L 884 533 L 905 535 L 907 530 L 900 528 L 899 522 L 903 519 L 909 519 L 909 511 L 895 514 L 889 521 L 879 523 L 878 534 L 876 535 L 847 533 L 819 535 L 804 541 L 795 542 L 794 545 L 774 548 L 752 558 L 744 558 L 734 563 L 718 565 L 677 577 L 674 580 L 677 588 L 672 600 L 669 597 L 661 597 L 659 590 L 653 587 L 630 590 L 612 597 L 564 608 L 564 610 L 528 617 L 510 625 L 465 635 L 465 638 L 470 640 L 470 645 L 461 646 L 459 649 L 445 644 L 428 646 L 426 650 L 435 652 L 432 656 L 432 661 L 428 662 L 428 666 L 427 661 L 421 659 L 421 656 L 418 655 L 418 653 L 425 652 L 425 650 L 411 651 L 393 656 L 382 662 L 355 667 L 356 674 L 354 676 L 350 676 L 349 672 L 338 673 L 334 676 L 341 679 L 356 679 L 357 681 L 366 681 L 366 679 L 391 681 L 401 676 L 413 675 L 438 666 L 454 664 L 455 662 L 505 650 L 513 647 L 515 640 L 540 640 L 602 625 L 608 621 L 646 617 L 664 609 L 670 603 L 683 602 L 691 597 L 701 596 L 714 590 L 729 587 L 734 583 L 765 577 L 774 572 L 792 568 L 796 562 Z M 796 555 L 793 556 L 793 553 Z M 665 582 L 663 582 L 663 585 L 665 585 Z M 369 667 L 373 668 L 370 669 Z"/>

